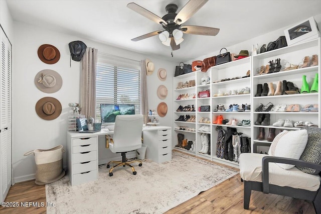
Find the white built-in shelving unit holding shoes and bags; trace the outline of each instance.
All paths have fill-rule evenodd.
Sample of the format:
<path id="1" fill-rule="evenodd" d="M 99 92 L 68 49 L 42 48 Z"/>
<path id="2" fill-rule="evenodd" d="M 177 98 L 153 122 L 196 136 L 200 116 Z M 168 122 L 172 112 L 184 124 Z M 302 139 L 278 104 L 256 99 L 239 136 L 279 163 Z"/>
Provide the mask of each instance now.
<path id="1" fill-rule="evenodd" d="M 298 64 L 302 61 L 304 56 L 312 57 L 313 54 L 318 55 L 318 65 L 313 67 L 299 68 L 295 70 L 282 71 L 285 67 L 285 62 L 289 62 L 291 64 Z M 196 142 L 196 150 L 195 152 L 187 151 L 185 149 L 180 149 L 184 152 L 194 154 L 199 157 L 207 158 L 209 160 L 218 161 L 231 166 L 238 166 L 237 162 L 225 160 L 218 158 L 216 156 L 216 143 L 218 137 L 218 131 L 216 131 L 217 126 L 221 126 L 226 130 L 227 127 L 236 128 L 238 133 L 243 133 L 242 136 L 249 137 L 251 139 L 251 148 L 253 152 L 253 143 L 254 142 L 263 142 L 270 143 L 266 140 L 269 128 L 275 129 L 286 129 L 286 130 L 297 130 L 299 128 L 288 128 L 288 127 L 274 127 L 272 124 L 276 122 L 278 119 L 289 119 L 293 122 L 297 121 L 309 121 L 313 124 L 316 124 L 319 128 L 321 127 L 321 113 L 320 110 L 318 112 L 255 112 L 255 109 L 259 106 L 260 103 L 264 105 L 268 102 L 272 102 L 274 105 L 276 104 L 300 104 L 301 107 L 304 107 L 305 104 L 319 104 L 321 103 L 321 95 L 320 95 L 320 57 L 321 57 L 321 47 L 320 47 L 320 38 L 314 39 L 311 41 L 307 41 L 304 43 L 276 49 L 273 51 L 268 51 L 265 53 L 257 54 L 256 56 L 249 56 L 240 60 L 228 62 L 225 64 L 217 65 L 211 67 L 207 72 L 195 71 L 192 73 L 184 74 L 181 76 L 174 77 L 173 88 L 174 88 L 174 123 L 173 123 L 173 147 L 175 149 L 180 149 L 175 147 L 178 144 L 177 134 L 182 133 L 184 137 L 188 140 L 195 140 Z M 270 60 L 275 60 L 277 58 L 281 59 L 281 71 L 270 74 L 256 75 L 257 70 L 262 65 L 268 65 Z M 289 65 L 287 65 L 289 66 Z M 246 72 L 250 70 L 250 77 L 246 76 Z M 264 84 L 268 82 L 273 82 L 274 89 L 276 88 L 277 81 L 290 81 L 293 82 L 295 86 L 301 88 L 302 85 L 302 75 L 306 75 L 307 82 L 309 87 L 313 82 L 313 78 L 315 74 L 318 73 L 318 93 L 306 93 L 306 94 L 289 94 L 289 95 L 273 95 L 273 96 L 255 96 L 257 93 L 257 84 Z M 204 76 L 209 76 L 211 79 L 210 84 L 200 85 L 201 79 Z M 222 79 L 227 78 L 235 78 L 235 77 L 244 77 L 237 78 L 228 81 L 220 81 Z M 196 86 L 194 87 L 186 87 L 181 89 L 176 89 L 179 82 L 185 83 L 186 81 L 190 81 L 195 79 Z M 219 81 L 219 82 L 217 82 Z M 214 93 L 219 91 L 226 92 L 228 90 L 237 90 L 241 88 L 249 87 L 249 94 L 237 94 L 237 95 L 224 95 L 224 96 L 213 96 Z M 206 98 L 198 98 L 197 94 L 199 91 L 210 89 L 211 95 Z M 186 93 L 195 93 L 196 98 L 191 99 L 177 99 L 180 94 Z M 250 112 L 213 112 L 216 109 L 218 104 L 224 104 L 225 109 L 229 108 L 230 104 L 251 104 Z M 179 106 L 183 107 L 186 105 L 194 105 L 195 112 L 177 112 L 176 110 Z M 198 108 L 201 105 L 210 105 L 210 112 L 199 112 Z M 259 114 L 270 114 L 270 125 L 269 126 L 257 126 L 254 125 L 255 121 L 258 118 Z M 196 117 L 196 122 L 184 122 L 184 121 L 175 121 L 181 115 L 190 115 Z M 223 119 L 232 119 L 236 118 L 238 121 L 242 120 L 250 120 L 251 126 L 229 126 L 229 125 L 216 125 L 213 124 L 213 121 L 216 120 L 216 117 L 222 115 Z M 199 123 L 201 118 L 208 118 L 209 124 Z M 211 154 L 201 154 L 198 153 L 202 148 L 201 144 L 201 134 L 204 132 L 198 131 L 200 127 L 203 125 L 208 125 L 211 127 L 210 132 L 207 132 L 211 135 Z M 186 130 L 178 130 L 175 129 L 180 126 L 187 126 L 195 129 L 196 131 L 186 131 Z M 259 134 L 259 127 L 265 128 L 265 138 L 262 141 L 257 140 L 257 136 Z M 260 151 L 260 150 L 259 150 Z"/>

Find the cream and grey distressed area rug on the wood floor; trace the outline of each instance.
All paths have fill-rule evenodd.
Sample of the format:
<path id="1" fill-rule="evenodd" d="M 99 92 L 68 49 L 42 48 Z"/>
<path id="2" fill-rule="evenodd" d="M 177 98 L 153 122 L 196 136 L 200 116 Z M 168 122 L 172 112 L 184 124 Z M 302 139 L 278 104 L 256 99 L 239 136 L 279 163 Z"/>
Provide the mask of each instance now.
<path id="1" fill-rule="evenodd" d="M 68 176 L 46 185 L 47 213 L 164 213 L 238 171 L 173 151 L 172 160 L 118 167 L 109 177 L 99 166 L 97 181 L 70 186 Z"/>

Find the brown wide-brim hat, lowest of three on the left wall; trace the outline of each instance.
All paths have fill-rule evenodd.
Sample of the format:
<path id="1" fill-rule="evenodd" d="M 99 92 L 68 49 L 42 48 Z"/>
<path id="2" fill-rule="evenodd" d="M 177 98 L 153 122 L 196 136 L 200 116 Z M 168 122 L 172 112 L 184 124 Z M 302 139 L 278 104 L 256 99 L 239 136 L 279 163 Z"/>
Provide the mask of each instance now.
<path id="1" fill-rule="evenodd" d="M 36 103 L 36 113 L 44 120 L 54 120 L 61 114 L 61 103 L 50 96 L 43 97 Z"/>

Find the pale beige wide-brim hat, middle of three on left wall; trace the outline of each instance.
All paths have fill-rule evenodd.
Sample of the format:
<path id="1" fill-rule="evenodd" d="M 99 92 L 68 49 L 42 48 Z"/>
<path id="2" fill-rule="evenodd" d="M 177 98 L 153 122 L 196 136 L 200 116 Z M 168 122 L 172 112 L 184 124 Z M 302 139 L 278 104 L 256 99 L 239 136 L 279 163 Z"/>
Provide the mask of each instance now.
<path id="1" fill-rule="evenodd" d="M 36 74 L 35 84 L 43 92 L 54 93 L 61 88 L 62 78 L 56 71 L 45 69 Z"/>

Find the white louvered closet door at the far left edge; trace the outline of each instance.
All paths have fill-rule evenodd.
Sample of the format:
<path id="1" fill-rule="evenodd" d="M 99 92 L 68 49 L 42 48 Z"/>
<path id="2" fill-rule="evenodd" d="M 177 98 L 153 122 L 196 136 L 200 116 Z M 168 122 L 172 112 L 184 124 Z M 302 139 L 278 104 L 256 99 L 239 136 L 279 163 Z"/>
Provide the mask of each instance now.
<path id="1" fill-rule="evenodd" d="M 12 46 L 2 28 L 0 42 L 0 199 L 3 202 L 12 184 Z"/>

